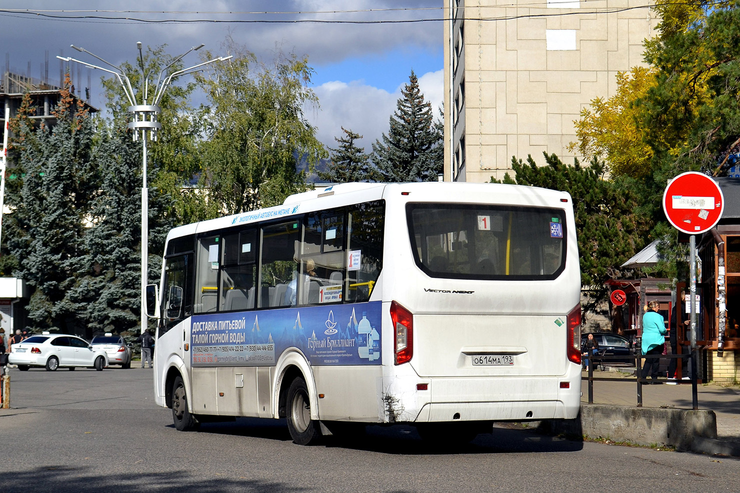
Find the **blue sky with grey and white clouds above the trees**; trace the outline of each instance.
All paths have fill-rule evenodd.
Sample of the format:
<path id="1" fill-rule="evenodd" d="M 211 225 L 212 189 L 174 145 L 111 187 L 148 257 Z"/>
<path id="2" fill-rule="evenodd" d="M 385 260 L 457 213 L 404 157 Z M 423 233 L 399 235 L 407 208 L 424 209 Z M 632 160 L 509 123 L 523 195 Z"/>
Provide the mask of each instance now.
<path id="1" fill-rule="evenodd" d="M 320 100 L 320 110 L 307 109 L 306 117 L 317 127 L 318 137 L 334 147 L 334 136 L 344 126 L 365 135 L 360 144 L 369 151 L 371 142 L 387 132 L 388 118 L 411 69 L 427 100 L 434 106 L 441 104 L 443 24 L 435 19 L 443 16 L 442 6 L 440 0 L 212 0 L 207 4 L 150 0 L 145 6 L 120 0 L 4 0 L 0 41 L 14 73 L 27 75 L 30 68 L 31 77 L 41 78 L 48 56 L 51 84 L 58 84 L 57 55 L 98 63 L 70 49 L 70 44 L 85 47 L 112 64 L 132 61 L 138 55 L 136 41 L 144 46 L 167 44 L 172 55 L 205 43 L 212 53 L 221 54 L 226 36 L 262 60 L 271 59 L 276 47 L 305 54 L 316 71 L 312 82 Z M 252 23 L 255 20 L 260 22 Z M 379 20 L 420 22 L 344 23 Z M 184 61 L 195 64 L 198 57 L 192 54 Z M 102 105 L 101 75 L 107 74 L 84 68 L 75 84 L 87 87 L 91 81 L 90 99 L 95 106 Z M 74 67 L 73 76 L 77 76 Z"/>

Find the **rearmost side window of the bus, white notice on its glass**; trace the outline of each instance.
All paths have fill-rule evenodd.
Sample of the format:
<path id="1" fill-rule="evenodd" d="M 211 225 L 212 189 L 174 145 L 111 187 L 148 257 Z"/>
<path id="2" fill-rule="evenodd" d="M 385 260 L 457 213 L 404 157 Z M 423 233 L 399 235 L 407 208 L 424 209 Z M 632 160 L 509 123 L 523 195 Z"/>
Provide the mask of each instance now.
<path id="1" fill-rule="evenodd" d="M 347 224 L 346 301 L 368 301 L 383 269 L 385 202 L 349 207 Z M 359 261 L 359 264 L 354 264 Z"/>

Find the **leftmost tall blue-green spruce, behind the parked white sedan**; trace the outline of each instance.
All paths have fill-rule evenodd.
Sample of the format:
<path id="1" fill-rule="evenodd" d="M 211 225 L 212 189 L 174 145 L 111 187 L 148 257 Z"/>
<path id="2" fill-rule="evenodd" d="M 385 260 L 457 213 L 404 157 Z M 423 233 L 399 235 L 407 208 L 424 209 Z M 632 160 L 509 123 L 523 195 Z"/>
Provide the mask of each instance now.
<path id="1" fill-rule="evenodd" d="M 87 301 L 77 292 L 86 269 L 83 237 L 90 204 L 101 190 L 92 158 L 94 127 L 68 87 L 69 79 L 53 128 L 35 131 L 19 121 L 19 186 L 8 196 L 8 244 L 19 259 L 16 275 L 35 289 L 27 309 L 36 330 L 82 325 Z"/>

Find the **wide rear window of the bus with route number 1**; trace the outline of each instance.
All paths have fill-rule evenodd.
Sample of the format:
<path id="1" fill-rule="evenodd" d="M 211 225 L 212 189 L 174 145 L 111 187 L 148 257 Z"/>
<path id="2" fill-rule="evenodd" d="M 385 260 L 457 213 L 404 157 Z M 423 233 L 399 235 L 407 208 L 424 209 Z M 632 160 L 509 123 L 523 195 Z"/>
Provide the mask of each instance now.
<path id="1" fill-rule="evenodd" d="M 407 204 L 414 261 L 434 278 L 548 280 L 565 268 L 565 211 Z"/>

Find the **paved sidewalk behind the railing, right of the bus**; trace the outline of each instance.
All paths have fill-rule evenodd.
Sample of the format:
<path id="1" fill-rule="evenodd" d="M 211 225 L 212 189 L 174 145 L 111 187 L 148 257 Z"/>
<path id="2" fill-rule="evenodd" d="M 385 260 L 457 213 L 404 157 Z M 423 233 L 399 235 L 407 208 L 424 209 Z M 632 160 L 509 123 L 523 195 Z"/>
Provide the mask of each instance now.
<path id="1" fill-rule="evenodd" d="M 607 367 L 609 369 L 609 367 Z M 595 371 L 594 378 L 625 378 L 625 381 L 593 382 L 593 403 L 616 406 L 637 406 L 637 383 L 632 375 L 615 371 Z M 588 378 L 588 372 L 582 376 Z M 691 384 L 643 385 L 643 408 L 692 409 Z M 588 403 L 588 380 L 581 382 L 581 402 Z M 740 457 L 740 386 L 721 386 L 717 383 L 699 384 L 699 409 L 715 413 L 717 438 L 697 440 L 695 452 L 724 454 Z"/>

